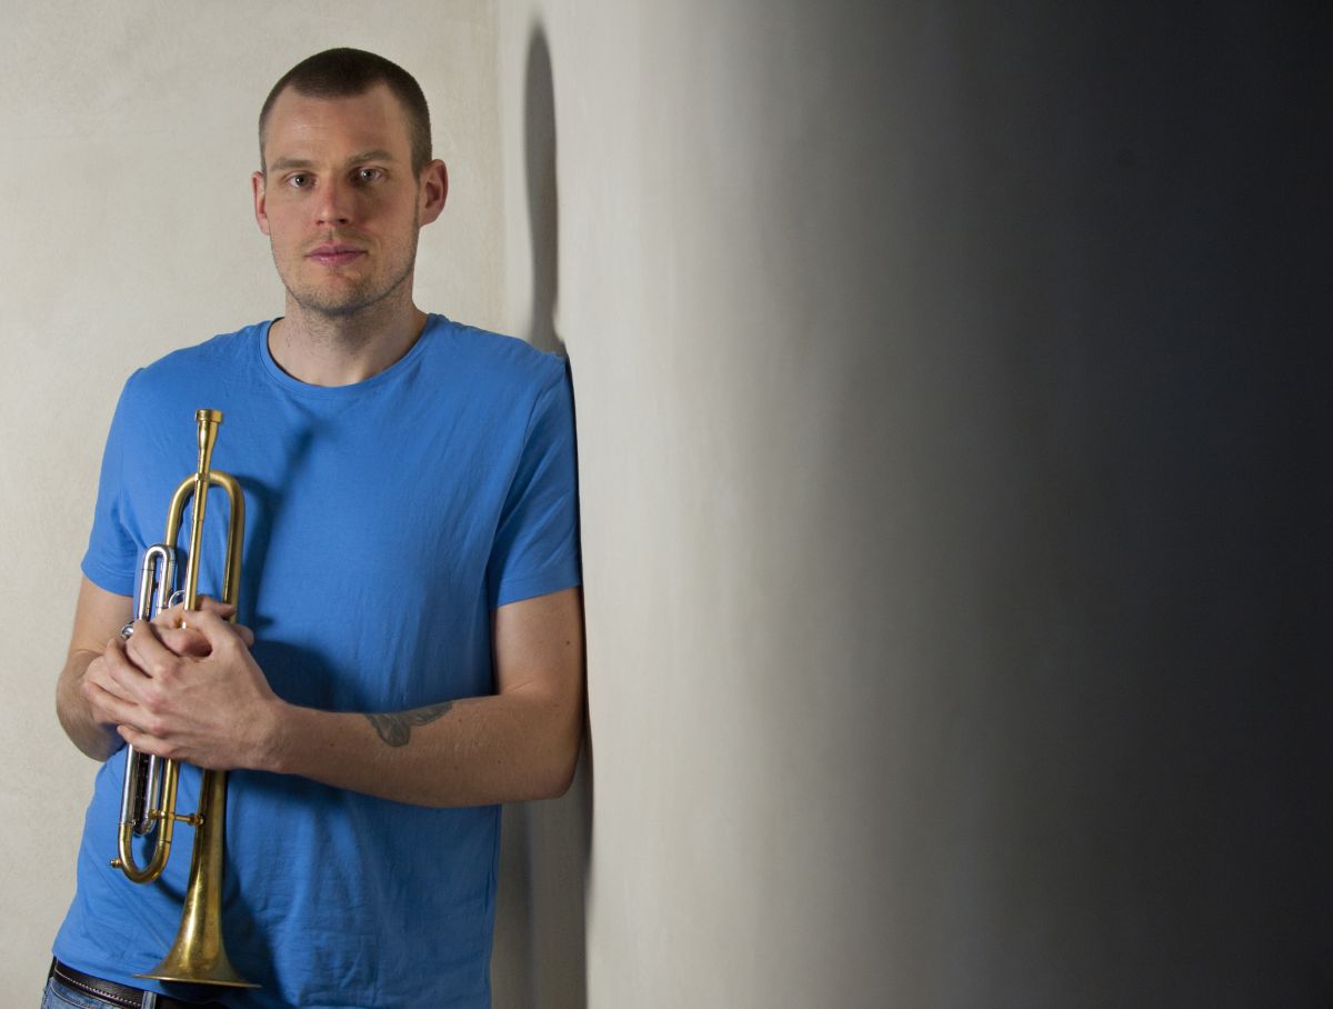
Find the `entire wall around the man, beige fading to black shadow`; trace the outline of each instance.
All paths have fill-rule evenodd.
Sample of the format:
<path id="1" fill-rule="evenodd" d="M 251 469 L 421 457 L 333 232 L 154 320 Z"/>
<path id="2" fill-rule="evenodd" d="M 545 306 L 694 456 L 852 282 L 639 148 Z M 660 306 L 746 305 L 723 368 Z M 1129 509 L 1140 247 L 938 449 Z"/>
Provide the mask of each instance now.
<path id="1" fill-rule="evenodd" d="M 453 167 L 421 301 L 573 369 L 589 758 L 507 810 L 497 1008 L 1325 1004 L 1325 57 L 1214 8 L 7 16 L 0 982 L 113 397 L 276 311 L 255 108 L 353 41 Z"/>

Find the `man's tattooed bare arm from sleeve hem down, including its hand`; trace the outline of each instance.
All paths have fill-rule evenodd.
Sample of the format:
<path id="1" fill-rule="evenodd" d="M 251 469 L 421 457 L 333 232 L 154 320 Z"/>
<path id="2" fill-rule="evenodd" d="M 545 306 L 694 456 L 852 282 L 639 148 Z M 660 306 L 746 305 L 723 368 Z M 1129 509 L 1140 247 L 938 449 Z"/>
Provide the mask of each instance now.
<path id="1" fill-rule="evenodd" d="M 95 708 L 141 750 L 428 806 L 549 798 L 573 777 L 584 718 L 579 589 L 496 610 L 495 696 L 411 712 L 287 704 L 269 689 L 243 629 L 213 613 L 188 620 L 185 630 L 137 624 L 89 672 Z M 203 650 L 199 636 L 209 654 L 181 654 Z"/>

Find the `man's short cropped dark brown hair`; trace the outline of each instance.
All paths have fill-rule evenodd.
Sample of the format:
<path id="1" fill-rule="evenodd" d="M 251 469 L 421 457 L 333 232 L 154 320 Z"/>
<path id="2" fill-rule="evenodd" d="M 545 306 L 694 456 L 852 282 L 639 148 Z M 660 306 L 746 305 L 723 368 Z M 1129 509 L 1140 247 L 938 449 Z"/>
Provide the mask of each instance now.
<path id="1" fill-rule="evenodd" d="M 325 49 L 301 60 L 284 73 L 264 99 L 259 113 L 259 163 L 264 161 L 264 135 L 268 129 L 268 116 L 273 111 L 277 96 L 291 88 L 299 95 L 312 99 L 347 99 L 364 95 L 376 84 L 388 85 L 403 105 L 408 121 L 408 139 L 412 143 L 412 171 L 421 171 L 431 163 L 431 109 L 416 79 L 396 63 L 364 49 Z"/>

